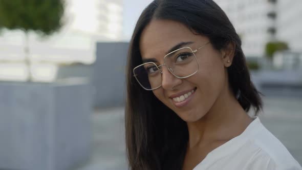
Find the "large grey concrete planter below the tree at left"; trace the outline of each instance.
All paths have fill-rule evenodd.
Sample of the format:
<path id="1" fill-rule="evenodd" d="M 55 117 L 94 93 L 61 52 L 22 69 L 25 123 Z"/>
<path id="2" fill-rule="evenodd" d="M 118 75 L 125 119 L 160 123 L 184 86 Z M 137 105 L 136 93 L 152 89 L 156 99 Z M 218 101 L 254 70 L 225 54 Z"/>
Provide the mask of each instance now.
<path id="1" fill-rule="evenodd" d="M 0 82 L 0 169 L 65 170 L 89 158 L 87 82 Z"/>

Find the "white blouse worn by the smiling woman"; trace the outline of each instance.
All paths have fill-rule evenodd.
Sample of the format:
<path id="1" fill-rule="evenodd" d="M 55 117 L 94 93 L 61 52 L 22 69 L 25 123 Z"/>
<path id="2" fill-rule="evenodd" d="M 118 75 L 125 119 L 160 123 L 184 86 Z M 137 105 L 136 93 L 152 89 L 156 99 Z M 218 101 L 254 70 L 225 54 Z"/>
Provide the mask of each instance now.
<path id="1" fill-rule="evenodd" d="M 299 169 L 287 148 L 256 117 L 239 136 L 211 151 L 193 170 Z"/>

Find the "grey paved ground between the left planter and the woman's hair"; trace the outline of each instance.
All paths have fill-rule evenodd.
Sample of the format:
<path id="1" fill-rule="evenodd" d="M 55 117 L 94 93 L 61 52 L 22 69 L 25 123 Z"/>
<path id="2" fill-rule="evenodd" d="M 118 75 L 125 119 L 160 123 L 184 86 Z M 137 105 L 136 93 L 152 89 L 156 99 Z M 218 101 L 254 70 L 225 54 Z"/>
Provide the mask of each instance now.
<path id="1" fill-rule="evenodd" d="M 75 170 L 127 169 L 123 117 L 123 108 L 111 108 L 95 112 L 92 116 L 92 157 L 89 162 Z"/>

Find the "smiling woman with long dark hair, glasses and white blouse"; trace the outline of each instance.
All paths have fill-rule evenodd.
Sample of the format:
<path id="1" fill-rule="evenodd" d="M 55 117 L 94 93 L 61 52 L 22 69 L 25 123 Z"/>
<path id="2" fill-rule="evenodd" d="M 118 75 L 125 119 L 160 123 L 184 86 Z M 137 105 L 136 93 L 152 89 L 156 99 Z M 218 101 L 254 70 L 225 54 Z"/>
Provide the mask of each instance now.
<path id="1" fill-rule="evenodd" d="M 262 100 L 217 4 L 156 0 L 142 12 L 127 63 L 131 169 L 301 169 L 251 107 Z"/>

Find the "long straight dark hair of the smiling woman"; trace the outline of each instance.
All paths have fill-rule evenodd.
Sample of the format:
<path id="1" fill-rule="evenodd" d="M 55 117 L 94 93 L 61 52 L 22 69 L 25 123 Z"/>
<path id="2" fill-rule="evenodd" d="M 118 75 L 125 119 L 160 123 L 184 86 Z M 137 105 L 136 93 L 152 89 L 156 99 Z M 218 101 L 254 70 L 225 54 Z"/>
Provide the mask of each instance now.
<path id="1" fill-rule="evenodd" d="M 131 169 L 181 169 L 188 142 L 186 122 L 140 87 L 133 68 L 142 63 L 139 40 L 152 19 L 175 20 L 207 36 L 217 50 L 235 45 L 228 68 L 230 87 L 242 108 L 262 109 L 260 94 L 250 79 L 241 39 L 223 10 L 211 0 L 155 0 L 140 15 L 128 51 L 125 109 L 126 150 Z"/>

